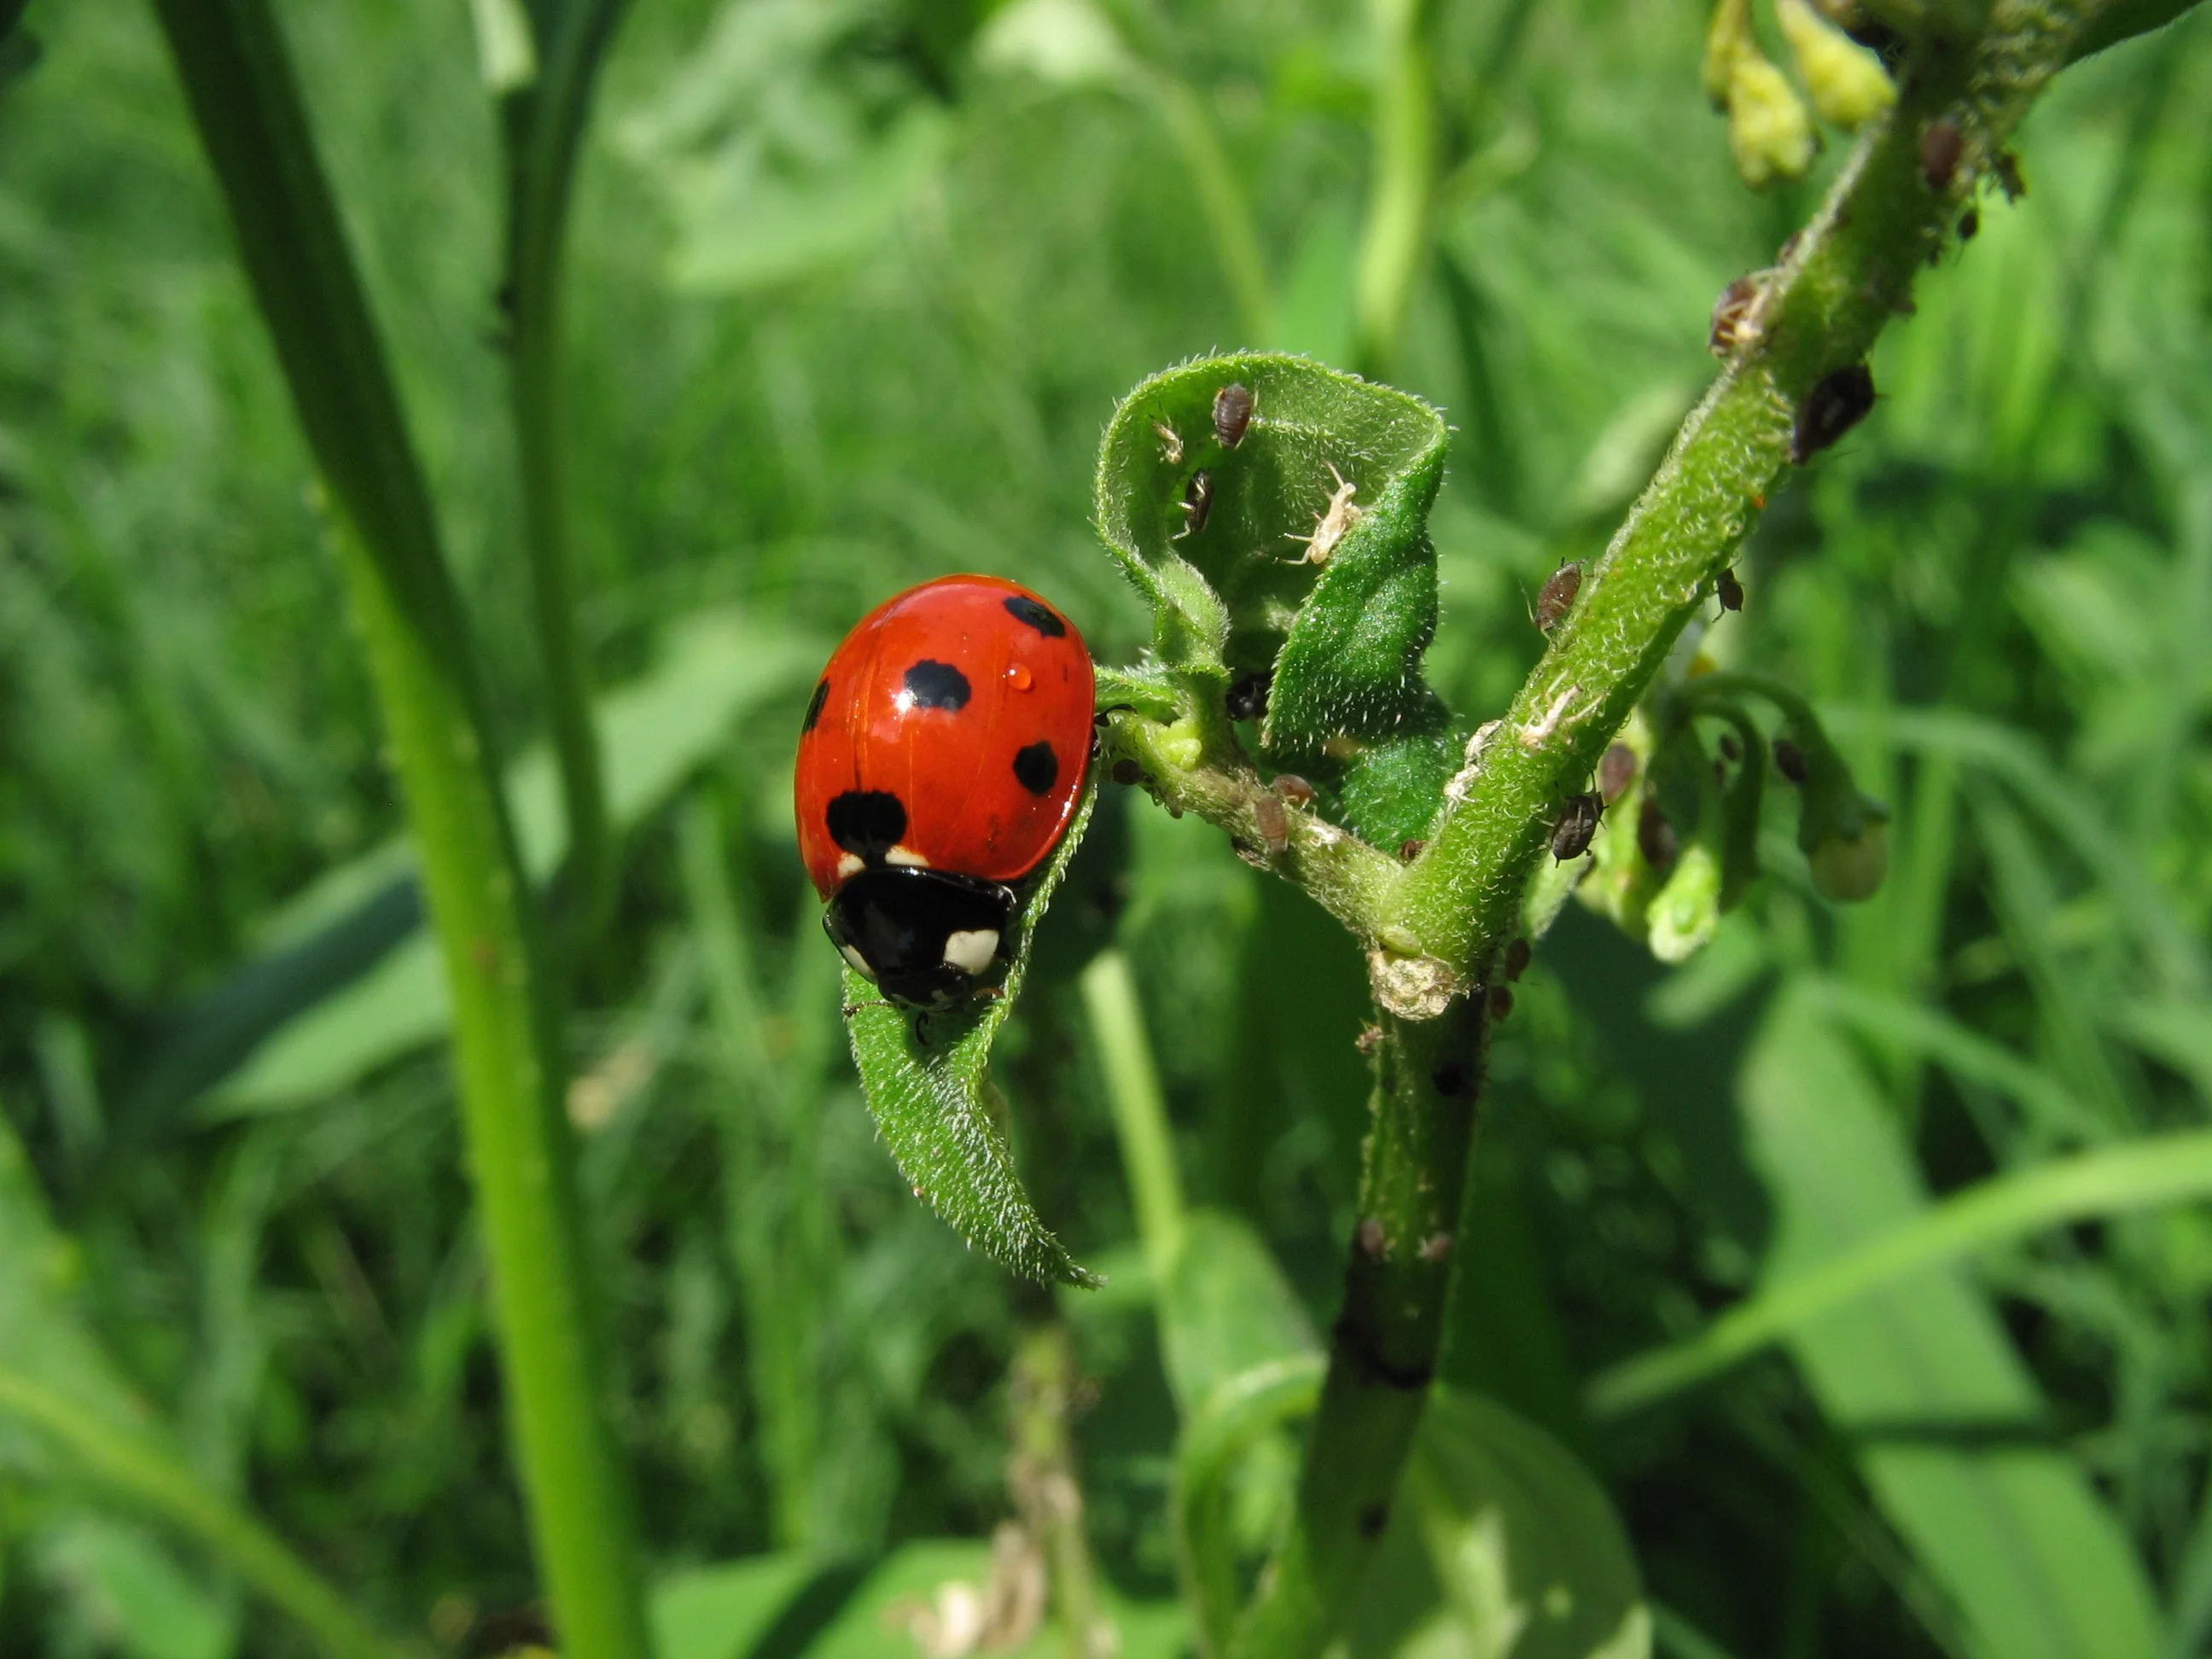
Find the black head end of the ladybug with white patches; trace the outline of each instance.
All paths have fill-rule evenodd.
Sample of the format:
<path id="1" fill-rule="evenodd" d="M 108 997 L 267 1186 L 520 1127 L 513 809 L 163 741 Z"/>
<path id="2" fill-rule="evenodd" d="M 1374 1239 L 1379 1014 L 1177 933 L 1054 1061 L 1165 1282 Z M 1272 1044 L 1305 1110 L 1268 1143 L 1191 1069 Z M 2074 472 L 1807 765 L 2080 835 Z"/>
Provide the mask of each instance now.
<path id="1" fill-rule="evenodd" d="M 878 865 L 852 876 L 823 931 L 887 998 L 945 1009 L 1004 971 L 1013 889 L 995 880 L 914 865 Z"/>

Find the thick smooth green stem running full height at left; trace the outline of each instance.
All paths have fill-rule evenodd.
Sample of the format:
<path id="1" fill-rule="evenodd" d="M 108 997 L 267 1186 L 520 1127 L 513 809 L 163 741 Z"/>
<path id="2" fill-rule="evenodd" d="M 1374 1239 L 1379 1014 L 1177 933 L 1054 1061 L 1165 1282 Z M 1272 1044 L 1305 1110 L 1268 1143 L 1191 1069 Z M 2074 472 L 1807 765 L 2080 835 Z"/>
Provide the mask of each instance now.
<path id="1" fill-rule="evenodd" d="M 323 480 L 453 998 L 509 1431 L 562 1648 L 644 1659 L 526 885 L 429 491 L 265 0 L 155 0 Z"/>

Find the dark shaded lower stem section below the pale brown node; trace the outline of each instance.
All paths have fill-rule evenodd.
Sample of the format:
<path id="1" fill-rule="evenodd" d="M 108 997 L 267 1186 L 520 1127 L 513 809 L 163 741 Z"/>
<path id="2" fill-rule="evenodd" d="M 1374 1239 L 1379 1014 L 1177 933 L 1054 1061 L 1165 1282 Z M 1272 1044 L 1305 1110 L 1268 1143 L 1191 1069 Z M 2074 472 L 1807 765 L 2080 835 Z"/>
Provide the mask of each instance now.
<path id="1" fill-rule="evenodd" d="M 1383 1015 L 1345 1303 L 1296 1513 L 1237 1632 L 1232 1652 L 1245 1659 L 1318 1655 L 1389 1524 L 1444 1336 L 1484 1035 L 1467 998 L 1438 1020 Z"/>

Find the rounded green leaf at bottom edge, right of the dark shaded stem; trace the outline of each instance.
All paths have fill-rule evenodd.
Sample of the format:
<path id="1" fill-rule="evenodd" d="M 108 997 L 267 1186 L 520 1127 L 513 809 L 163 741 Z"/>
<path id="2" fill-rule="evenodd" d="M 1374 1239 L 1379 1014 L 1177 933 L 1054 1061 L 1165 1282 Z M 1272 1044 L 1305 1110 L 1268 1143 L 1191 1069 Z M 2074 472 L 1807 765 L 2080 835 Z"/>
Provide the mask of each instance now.
<path id="1" fill-rule="evenodd" d="M 1526 1418 L 1433 1389 L 1352 1659 L 1646 1659 L 1650 1630 L 1604 1486 Z"/>

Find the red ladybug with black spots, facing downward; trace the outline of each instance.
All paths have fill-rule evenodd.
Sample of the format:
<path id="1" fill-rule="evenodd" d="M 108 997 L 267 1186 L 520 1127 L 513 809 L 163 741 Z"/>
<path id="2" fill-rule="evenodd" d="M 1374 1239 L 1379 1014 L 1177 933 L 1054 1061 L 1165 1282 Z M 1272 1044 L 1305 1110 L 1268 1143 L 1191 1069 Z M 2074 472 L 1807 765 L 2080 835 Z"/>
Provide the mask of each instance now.
<path id="1" fill-rule="evenodd" d="M 949 575 L 845 635 L 799 734 L 799 854 L 823 931 L 887 998 L 942 1009 L 1002 978 L 1018 885 L 1075 818 L 1091 653 L 995 575 Z"/>

